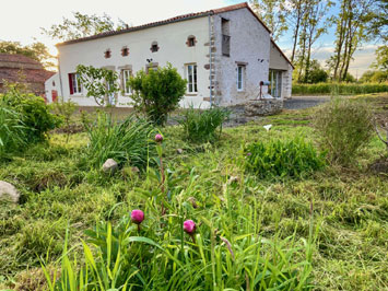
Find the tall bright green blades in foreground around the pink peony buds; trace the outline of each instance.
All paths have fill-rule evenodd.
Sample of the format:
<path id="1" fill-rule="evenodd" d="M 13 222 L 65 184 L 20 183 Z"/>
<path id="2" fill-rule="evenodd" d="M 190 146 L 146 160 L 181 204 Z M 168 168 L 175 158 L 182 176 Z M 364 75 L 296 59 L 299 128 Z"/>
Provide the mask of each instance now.
<path id="1" fill-rule="evenodd" d="M 262 207 L 237 199 L 233 206 L 198 216 L 195 243 L 181 231 L 184 205 L 172 203 L 163 219 L 148 202 L 140 230 L 129 216 L 116 225 L 102 222 L 86 232 L 82 257 L 66 241 L 59 278 L 43 265 L 49 290 L 311 290 L 313 216 L 307 240 L 280 232 L 266 238 Z M 235 211 L 247 216 L 227 223 Z"/>

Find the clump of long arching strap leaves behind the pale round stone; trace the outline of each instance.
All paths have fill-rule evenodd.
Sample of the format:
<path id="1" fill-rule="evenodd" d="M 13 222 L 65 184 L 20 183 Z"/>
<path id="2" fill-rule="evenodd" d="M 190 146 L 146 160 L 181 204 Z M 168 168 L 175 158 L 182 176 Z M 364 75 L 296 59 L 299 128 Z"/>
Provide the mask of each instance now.
<path id="1" fill-rule="evenodd" d="M 149 143 L 153 126 L 143 119 L 129 116 L 122 123 L 115 123 L 110 115 L 99 113 L 94 125 L 85 125 L 89 135 L 86 162 L 99 168 L 107 159 L 119 165 L 130 163 L 144 167 L 149 154 L 154 152 L 154 143 Z"/>

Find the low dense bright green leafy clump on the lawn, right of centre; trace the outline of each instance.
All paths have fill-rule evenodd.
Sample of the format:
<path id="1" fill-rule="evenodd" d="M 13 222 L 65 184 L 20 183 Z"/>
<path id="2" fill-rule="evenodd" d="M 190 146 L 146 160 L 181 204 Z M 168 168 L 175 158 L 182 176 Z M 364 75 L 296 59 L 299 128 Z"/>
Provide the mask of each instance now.
<path id="1" fill-rule="evenodd" d="M 325 153 L 301 138 L 251 143 L 245 154 L 246 170 L 260 178 L 301 177 L 325 165 Z"/>

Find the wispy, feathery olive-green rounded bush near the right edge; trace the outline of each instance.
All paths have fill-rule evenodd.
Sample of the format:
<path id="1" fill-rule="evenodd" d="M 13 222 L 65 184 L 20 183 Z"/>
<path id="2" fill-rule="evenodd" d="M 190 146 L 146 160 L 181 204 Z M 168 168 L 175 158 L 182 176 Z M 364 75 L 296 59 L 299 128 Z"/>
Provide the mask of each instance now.
<path id="1" fill-rule="evenodd" d="M 350 162 L 373 136 L 372 113 L 366 103 L 332 100 L 314 116 L 321 147 L 339 163 Z"/>

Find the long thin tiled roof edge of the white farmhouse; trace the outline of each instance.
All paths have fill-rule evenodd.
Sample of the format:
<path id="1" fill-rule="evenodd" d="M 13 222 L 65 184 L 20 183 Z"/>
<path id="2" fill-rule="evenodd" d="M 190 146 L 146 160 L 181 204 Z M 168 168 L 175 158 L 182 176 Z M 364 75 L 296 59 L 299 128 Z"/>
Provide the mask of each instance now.
<path id="1" fill-rule="evenodd" d="M 238 4 L 234 4 L 234 5 L 230 5 L 230 7 L 224 7 L 224 8 L 220 8 L 220 9 L 213 9 L 213 10 L 203 11 L 203 12 L 178 15 L 178 16 L 175 16 L 175 18 L 172 18 L 172 19 L 157 21 L 157 22 L 151 22 L 151 23 L 148 23 L 148 24 L 143 24 L 143 25 L 139 25 L 139 26 L 132 26 L 132 27 L 129 27 L 129 28 L 120 30 L 120 31 L 110 31 L 110 32 L 105 32 L 105 33 L 92 35 L 92 36 L 77 38 L 77 39 L 72 39 L 72 40 L 68 40 L 68 42 L 63 42 L 63 43 L 57 44 L 57 46 L 69 45 L 69 44 L 81 43 L 81 42 L 86 42 L 86 40 L 91 40 L 91 39 L 97 39 L 97 38 L 102 38 L 102 37 L 124 34 L 124 33 L 136 32 L 136 31 L 150 28 L 150 27 L 154 27 L 154 26 L 158 26 L 158 25 L 164 25 L 164 24 L 169 24 L 169 23 L 174 23 L 174 22 L 191 20 L 191 19 L 197 19 L 197 18 L 202 18 L 202 16 L 212 15 L 212 14 L 224 13 L 224 12 L 234 11 L 234 10 L 244 9 L 244 8 L 248 9 L 255 15 L 255 18 L 264 26 L 264 28 L 269 33 L 271 33 L 271 31 L 267 27 L 267 25 L 250 9 L 248 3 L 247 2 L 243 2 L 243 3 L 238 3 Z"/>

